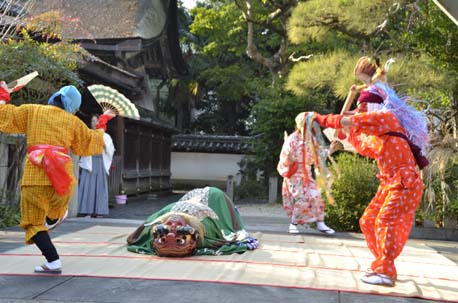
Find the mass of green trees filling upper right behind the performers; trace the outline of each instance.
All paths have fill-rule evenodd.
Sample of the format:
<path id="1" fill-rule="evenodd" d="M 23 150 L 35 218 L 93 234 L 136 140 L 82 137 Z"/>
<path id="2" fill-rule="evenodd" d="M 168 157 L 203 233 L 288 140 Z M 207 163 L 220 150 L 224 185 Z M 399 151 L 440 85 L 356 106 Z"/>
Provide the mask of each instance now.
<path id="1" fill-rule="evenodd" d="M 256 47 L 267 58 L 282 38 L 272 30 L 277 24 L 268 24 L 268 9 L 283 2 L 250 1 L 258 17 Z M 197 103 L 204 113 L 192 131 L 255 136 L 251 159 L 265 176 L 275 173 L 283 131 L 292 131 L 299 112 L 340 112 L 362 55 L 377 55 L 382 63 L 394 58 L 389 83 L 433 106 L 449 106 L 457 87 L 458 31 L 431 1 L 298 1 L 287 24 L 288 48 L 311 57 L 289 62 L 290 72 L 274 86 L 267 68 L 245 54 L 247 25 L 235 1 L 201 1 L 191 16 L 194 39 L 185 40 L 196 53 L 192 70 L 199 89 L 212 93 Z M 234 119 L 237 130 L 225 126 Z"/>

